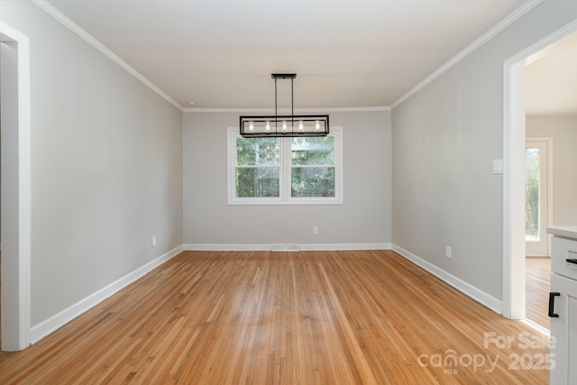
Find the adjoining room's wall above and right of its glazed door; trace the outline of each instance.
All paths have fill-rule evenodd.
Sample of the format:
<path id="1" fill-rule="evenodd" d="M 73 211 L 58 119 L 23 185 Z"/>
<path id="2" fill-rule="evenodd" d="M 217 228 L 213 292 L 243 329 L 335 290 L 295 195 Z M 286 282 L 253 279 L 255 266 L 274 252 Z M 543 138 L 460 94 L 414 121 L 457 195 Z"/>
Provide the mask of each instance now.
<path id="1" fill-rule="evenodd" d="M 553 138 L 553 224 L 577 224 L 577 116 L 527 116 L 527 137 Z"/>

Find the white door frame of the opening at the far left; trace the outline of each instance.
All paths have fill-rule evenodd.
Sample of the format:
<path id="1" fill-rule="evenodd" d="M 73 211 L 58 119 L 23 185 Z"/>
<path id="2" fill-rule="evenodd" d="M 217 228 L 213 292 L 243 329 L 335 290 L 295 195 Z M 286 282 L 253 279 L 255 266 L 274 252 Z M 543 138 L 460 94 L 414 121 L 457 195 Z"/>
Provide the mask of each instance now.
<path id="1" fill-rule="evenodd" d="M 30 345 L 31 331 L 31 256 L 32 256 L 32 146 L 31 146 L 31 74 L 30 40 L 22 32 L 0 22 L 0 42 L 7 42 L 17 50 L 14 63 L 17 75 L 17 161 L 3 164 L 4 172 L 16 178 L 17 191 L 6 204 L 17 207 L 15 223 L 10 223 L 11 234 L 3 249 L 14 250 L 2 256 L 2 350 L 19 351 Z M 14 74 L 8 74 L 14 76 Z M 11 94 L 12 96 L 12 94 Z M 14 111 L 11 111 L 11 114 Z M 3 141 L 3 145 L 4 145 Z M 15 157 L 15 158 L 16 158 Z M 9 171 L 10 170 L 10 171 Z M 4 199 L 5 197 L 3 197 Z M 15 200 L 17 199 L 17 202 Z M 4 203 L 4 202 L 3 202 Z M 3 211 L 5 205 L 3 205 Z M 5 227 L 2 232 L 5 233 Z M 12 244 L 6 244 L 12 243 Z"/>

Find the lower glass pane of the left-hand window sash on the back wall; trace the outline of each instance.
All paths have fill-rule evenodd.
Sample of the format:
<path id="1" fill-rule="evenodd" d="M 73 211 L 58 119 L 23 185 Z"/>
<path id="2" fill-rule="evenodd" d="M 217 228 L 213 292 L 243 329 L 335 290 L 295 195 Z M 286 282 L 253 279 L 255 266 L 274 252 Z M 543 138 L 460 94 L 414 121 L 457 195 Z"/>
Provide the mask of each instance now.
<path id="1" fill-rule="evenodd" d="M 236 197 L 279 197 L 279 168 L 237 168 Z"/>

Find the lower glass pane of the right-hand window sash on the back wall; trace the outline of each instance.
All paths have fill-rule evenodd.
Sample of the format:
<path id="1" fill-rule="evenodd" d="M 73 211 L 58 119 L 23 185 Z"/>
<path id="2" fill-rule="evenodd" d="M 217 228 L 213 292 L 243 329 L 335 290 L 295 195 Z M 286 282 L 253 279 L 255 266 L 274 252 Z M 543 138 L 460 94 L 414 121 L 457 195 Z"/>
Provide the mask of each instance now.
<path id="1" fill-rule="evenodd" d="M 291 197 L 334 197 L 334 167 L 293 167 Z"/>

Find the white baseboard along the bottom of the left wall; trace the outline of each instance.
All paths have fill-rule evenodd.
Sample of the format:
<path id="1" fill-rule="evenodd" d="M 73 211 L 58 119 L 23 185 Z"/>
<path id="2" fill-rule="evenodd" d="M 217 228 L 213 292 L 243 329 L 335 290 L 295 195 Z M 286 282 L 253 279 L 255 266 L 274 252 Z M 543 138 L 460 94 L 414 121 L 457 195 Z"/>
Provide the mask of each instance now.
<path id="1" fill-rule="evenodd" d="M 41 322 L 40 324 L 32 326 L 31 330 L 32 344 L 35 344 L 36 342 L 40 341 L 46 335 L 50 335 L 50 333 L 54 332 L 62 325 L 66 325 L 72 319 L 87 312 L 92 307 L 95 307 L 96 305 L 104 301 L 106 298 L 111 297 L 112 295 L 114 295 L 121 289 L 124 289 L 134 281 L 139 280 L 140 278 L 142 278 L 142 276 L 144 276 L 151 270 L 156 269 L 162 263 L 169 261 L 170 259 L 177 256 L 180 252 L 183 252 L 182 246 L 178 246 L 170 250 L 169 252 L 160 255 L 160 257 L 158 257 L 157 259 L 146 263 L 145 265 L 134 270 L 131 273 L 126 274 L 123 278 L 115 280 L 110 285 L 106 286 L 103 289 L 99 289 L 95 293 L 89 295 L 87 298 L 81 299 L 76 304 L 62 310 L 57 315 L 51 316 L 49 319 Z"/>

